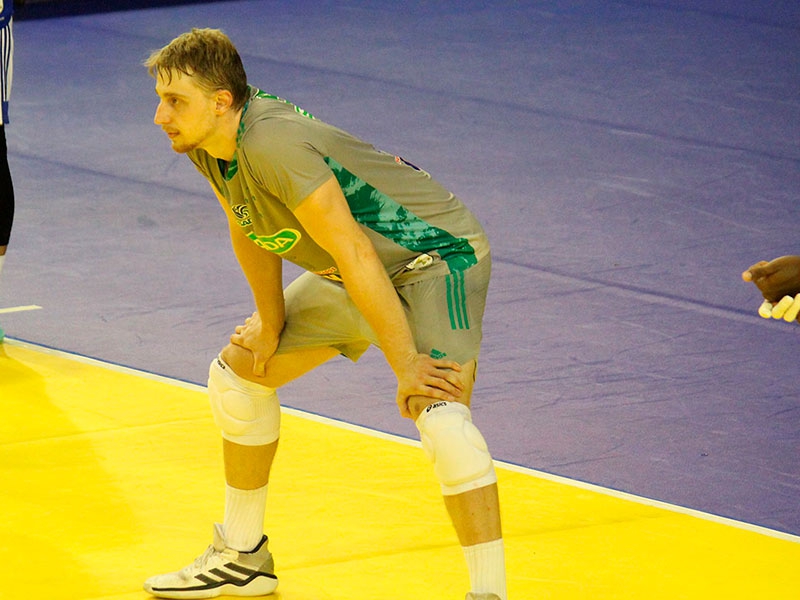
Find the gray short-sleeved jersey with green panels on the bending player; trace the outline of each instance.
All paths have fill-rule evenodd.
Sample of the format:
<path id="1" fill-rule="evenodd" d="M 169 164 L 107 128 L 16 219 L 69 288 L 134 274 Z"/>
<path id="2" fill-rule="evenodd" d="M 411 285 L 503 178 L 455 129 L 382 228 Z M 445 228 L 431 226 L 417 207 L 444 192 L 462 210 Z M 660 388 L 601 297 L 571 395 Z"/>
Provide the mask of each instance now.
<path id="1" fill-rule="evenodd" d="M 231 162 L 204 150 L 189 157 L 254 243 L 337 279 L 334 260 L 292 212 L 334 175 L 395 285 L 464 271 L 489 253 L 472 213 L 428 173 L 276 96 L 250 91 Z"/>

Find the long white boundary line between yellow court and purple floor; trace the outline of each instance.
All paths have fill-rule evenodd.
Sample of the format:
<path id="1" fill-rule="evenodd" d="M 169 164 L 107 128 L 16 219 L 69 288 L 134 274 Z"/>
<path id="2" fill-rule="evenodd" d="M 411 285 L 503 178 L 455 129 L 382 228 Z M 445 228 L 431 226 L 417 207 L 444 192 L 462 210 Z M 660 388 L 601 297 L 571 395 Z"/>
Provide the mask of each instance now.
<path id="1" fill-rule="evenodd" d="M 120 365 L 117 363 L 108 362 L 97 358 L 92 358 L 89 356 L 84 356 L 82 354 L 77 354 L 74 352 L 68 352 L 66 350 L 59 350 L 57 348 L 52 348 L 49 346 L 44 346 L 41 344 L 20 340 L 17 338 L 6 337 L 4 342 L 2 343 L 7 343 L 11 346 L 18 346 L 26 350 L 41 352 L 42 354 L 49 354 L 52 356 L 57 356 L 59 358 L 73 360 L 75 362 L 96 366 L 111 371 L 116 371 L 118 373 L 123 373 L 126 375 L 132 375 L 134 377 L 142 377 L 143 379 L 155 381 L 158 383 L 164 383 L 167 385 L 172 385 L 189 391 L 203 392 L 203 393 L 207 392 L 205 386 L 199 385 L 197 383 L 192 383 L 190 381 L 184 381 L 182 379 L 176 379 L 174 377 L 168 377 L 166 375 L 159 375 L 157 373 L 151 373 L 149 371 L 134 369 L 132 367 L 127 367 L 125 365 Z M 313 421 L 316 423 L 337 427 L 339 429 L 344 429 L 346 431 L 352 431 L 354 433 L 360 433 L 378 439 L 396 442 L 404 444 L 406 446 L 412 446 L 414 448 L 419 448 L 419 449 L 422 448 L 422 444 L 417 440 L 406 438 L 401 435 L 389 433 L 386 431 L 380 431 L 378 429 L 371 429 L 363 425 L 356 425 L 355 423 L 349 423 L 347 421 L 342 421 L 340 419 L 335 419 L 333 417 L 326 417 L 324 415 L 319 415 L 313 412 L 300 410 L 297 408 L 292 408 L 283 405 L 281 406 L 281 412 L 298 418 L 306 419 L 308 421 Z M 634 502 L 636 504 L 641 504 L 643 506 L 650 506 L 653 508 L 662 509 L 676 514 L 694 517 L 711 523 L 726 525 L 729 527 L 733 527 L 735 529 L 749 531 L 751 533 L 758 533 L 760 535 L 765 535 L 767 537 L 787 542 L 793 542 L 795 544 L 800 544 L 800 535 L 795 535 L 784 531 L 778 531 L 776 529 L 770 529 L 769 527 L 764 527 L 762 525 L 755 525 L 753 523 L 747 523 L 746 521 L 738 521 L 731 517 L 723 517 L 721 515 L 715 515 L 713 513 L 704 512 L 702 510 L 688 508 L 686 506 L 680 506 L 678 504 L 671 504 L 663 500 L 655 500 L 653 498 L 647 498 L 646 496 L 639 496 L 637 494 L 633 494 L 630 492 L 624 492 L 621 490 L 615 490 L 613 488 L 603 487 L 599 484 L 589 483 L 586 481 L 581 481 L 579 479 L 570 479 L 569 477 L 564 477 L 563 475 L 555 475 L 553 473 L 548 473 L 546 471 L 540 471 L 537 469 L 533 469 L 531 467 L 525 467 L 523 465 L 518 465 L 498 459 L 494 459 L 494 464 L 497 467 L 505 469 L 507 471 L 512 471 L 523 475 L 529 475 L 532 477 L 536 477 L 538 479 L 543 479 L 545 481 L 550 481 L 553 483 L 566 485 L 572 488 L 577 488 L 602 494 L 604 496 L 609 496 L 620 500 Z"/>

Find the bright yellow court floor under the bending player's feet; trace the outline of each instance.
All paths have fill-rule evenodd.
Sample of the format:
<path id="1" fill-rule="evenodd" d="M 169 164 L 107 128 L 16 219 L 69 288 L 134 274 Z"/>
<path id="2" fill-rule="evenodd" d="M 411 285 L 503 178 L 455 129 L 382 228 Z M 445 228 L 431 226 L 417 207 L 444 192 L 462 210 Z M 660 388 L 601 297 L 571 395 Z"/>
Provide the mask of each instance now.
<path id="1" fill-rule="evenodd" d="M 202 388 L 7 340 L 0 407 L 3 600 L 144 600 L 146 577 L 209 544 L 224 491 Z M 416 444 L 292 410 L 283 423 L 275 600 L 463 600 Z M 498 476 L 511 600 L 800 597 L 796 537 L 502 463 Z"/>

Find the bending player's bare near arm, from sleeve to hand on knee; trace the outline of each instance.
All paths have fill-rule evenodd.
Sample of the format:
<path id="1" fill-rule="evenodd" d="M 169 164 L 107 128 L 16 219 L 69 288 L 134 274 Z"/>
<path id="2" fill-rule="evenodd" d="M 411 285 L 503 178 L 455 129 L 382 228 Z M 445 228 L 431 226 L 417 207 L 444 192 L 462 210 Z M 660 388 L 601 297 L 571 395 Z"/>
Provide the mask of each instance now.
<path id="1" fill-rule="evenodd" d="M 356 223 L 336 178 L 331 176 L 294 211 L 308 234 L 336 261 L 345 288 L 378 336 L 397 377 L 397 402 L 410 416 L 410 396 L 454 401 L 462 384 L 460 365 L 417 352 L 411 328 L 372 242 Z"/>

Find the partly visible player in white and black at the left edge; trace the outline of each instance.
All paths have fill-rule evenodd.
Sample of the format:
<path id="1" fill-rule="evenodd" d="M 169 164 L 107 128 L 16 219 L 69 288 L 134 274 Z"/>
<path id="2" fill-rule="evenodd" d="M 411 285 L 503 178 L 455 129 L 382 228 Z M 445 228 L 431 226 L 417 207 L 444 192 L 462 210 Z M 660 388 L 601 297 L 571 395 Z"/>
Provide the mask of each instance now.
<path id="1" fill-rule="evenodd" d="M 0 0 L 0 102 L 3 115 L 0 119 L 0 274 L 6 259 L 6 248 L 11 239 L 11 226 L 14 222 L 14 186 L 8 168 L 8 148 L 6 128 L 8 124 L 8 98 L 11 92 L 13 75 L 14 38 L 12 35 L 14 3 Z M 4 337 L 0 328 L 0 342 Z"/>

